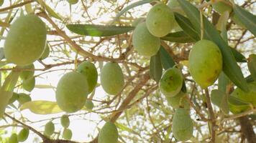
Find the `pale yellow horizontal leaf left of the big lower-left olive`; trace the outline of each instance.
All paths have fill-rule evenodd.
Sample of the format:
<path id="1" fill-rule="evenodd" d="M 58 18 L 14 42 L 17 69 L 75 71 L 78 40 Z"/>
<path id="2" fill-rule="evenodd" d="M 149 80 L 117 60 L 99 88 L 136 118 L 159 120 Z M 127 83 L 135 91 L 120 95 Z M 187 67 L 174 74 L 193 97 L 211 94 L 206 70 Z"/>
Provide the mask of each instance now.
<path id="1" fill-rule="evenodd" d="M 56 114 L 63 112 L 63 110 L 58 107 L 57 102 L 50 102 L 50 101 L 32 101 L 26 102 L 22 104 L 20 110 L 29 109 L 31 112 L 35 114 Z"/>

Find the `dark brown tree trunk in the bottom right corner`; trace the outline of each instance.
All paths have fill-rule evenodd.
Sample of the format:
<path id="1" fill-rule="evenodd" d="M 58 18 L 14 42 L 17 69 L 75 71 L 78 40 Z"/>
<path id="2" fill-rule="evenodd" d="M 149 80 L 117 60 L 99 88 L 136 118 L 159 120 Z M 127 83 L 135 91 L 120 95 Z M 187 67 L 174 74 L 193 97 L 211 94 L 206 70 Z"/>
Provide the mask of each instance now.
<path id="1" fill-rule="evenodd" d="M 239 117 L 239 122 L 241 125 L 242 134 L 247 139 L 249 143 L 256 143 L 256 135 L 253 131 L 252 124 L 247 116 Z"/>

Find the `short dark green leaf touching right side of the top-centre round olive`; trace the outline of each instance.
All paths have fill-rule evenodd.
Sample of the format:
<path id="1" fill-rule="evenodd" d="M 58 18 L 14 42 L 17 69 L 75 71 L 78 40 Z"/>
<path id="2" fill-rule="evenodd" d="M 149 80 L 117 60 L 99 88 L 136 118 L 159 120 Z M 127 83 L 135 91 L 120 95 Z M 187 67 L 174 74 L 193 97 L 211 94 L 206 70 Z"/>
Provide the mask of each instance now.
<path id="1" fill-rule="evenodd" d="M 200 33 L 198 33 L 198 31 L 196 31 L 193 28 L 193 25 L 191 24 L 191 21 L 188 20 L 188 18 L 178 13 L 174 13 L 174 16 L 180 28 L 183 29 L 183 31 L 188 36 L 190 36 L 191 39 L 193 39 L 194 41 L 200 40 L 200 37 L 199 37 Z"/>

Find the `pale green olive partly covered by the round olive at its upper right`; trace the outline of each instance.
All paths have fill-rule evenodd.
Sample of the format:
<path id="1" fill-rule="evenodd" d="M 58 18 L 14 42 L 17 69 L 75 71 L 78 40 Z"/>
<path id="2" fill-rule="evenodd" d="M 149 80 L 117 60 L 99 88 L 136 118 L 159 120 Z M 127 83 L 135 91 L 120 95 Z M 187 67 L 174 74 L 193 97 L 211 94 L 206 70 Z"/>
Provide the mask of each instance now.
<path id="1" fill-rule="evenodd" d="M 160 38 L 150 34 L 145 22 L 142 22 L 133 31 L 132 44 L 140 55 L 154 56 L 160 49 Z"/>

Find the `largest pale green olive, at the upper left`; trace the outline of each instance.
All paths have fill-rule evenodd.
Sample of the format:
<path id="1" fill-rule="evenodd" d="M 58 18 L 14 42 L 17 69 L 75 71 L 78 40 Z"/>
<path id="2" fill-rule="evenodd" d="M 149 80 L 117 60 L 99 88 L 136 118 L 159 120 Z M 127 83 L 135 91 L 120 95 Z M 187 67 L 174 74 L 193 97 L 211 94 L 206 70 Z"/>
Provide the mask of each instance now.
<path id="1" fill-rule="evenodd" d="M 4 43 L 6 60 L 26 66 L 39 59 L 45 51 L 45 23 L 33 14 L 20 16 L 10 26 Z"/>

